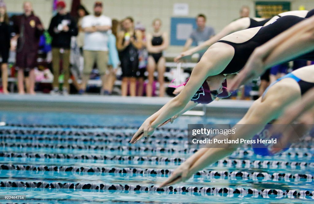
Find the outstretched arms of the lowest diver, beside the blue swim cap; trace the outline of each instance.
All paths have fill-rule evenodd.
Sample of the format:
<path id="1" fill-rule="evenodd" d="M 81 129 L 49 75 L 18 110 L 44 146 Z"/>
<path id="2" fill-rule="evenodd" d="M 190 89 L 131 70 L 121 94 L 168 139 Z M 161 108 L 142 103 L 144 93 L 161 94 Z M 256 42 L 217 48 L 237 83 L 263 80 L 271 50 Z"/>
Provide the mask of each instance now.
<path id="1" fill-rule="evenodd" d="M 296 93 L 296 95 L 297 94 L 299 93 Z M 231 140 L 237 138 L 245 140 L 251 139 L 256 133 L 263 130 L 263 127 L 269 121 L 276 118 L 285 106 L 292 102 L 291 96 L 297 98 L 296 95 L 283 92 L 280 88 L 269 89 L 264 100 L 262 101 L 262 98 L 257 99 L 247 111 L 246 115 L 232 127 L 232 129 L 236 129 L 235 134 L 227 136 L 218 135 L 214 138 L 219 140 L 225 138 L 231 138 Z M 219 144 L 219 146 L 217 146 L 217 144 L 208 144 L 206 148 L 198 150 L 198 152 L 188 158 L 186 162 L 181 164 L 160 187 L 189 179 L 197 171 L 230 155 L 241 143 L 232 144 L 232 146 L 229 145 L 230 144 Z"/>

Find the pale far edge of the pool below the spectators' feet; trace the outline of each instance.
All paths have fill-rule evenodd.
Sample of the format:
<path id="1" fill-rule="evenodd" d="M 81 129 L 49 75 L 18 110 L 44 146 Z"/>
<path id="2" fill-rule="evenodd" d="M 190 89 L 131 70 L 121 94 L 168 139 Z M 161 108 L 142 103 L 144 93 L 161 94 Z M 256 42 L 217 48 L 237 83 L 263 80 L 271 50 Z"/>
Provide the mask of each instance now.
<path id="1" fill-rule="evenodd" d="M 165 105 L 170 97 L 121 97 L 100 95 L 52 96 L 49 94 L 0 95 L 0 111 L 32 112 L 79 112 L 93 114 L 136 114 L 150 115 Z M 205 110 L 208 116 L 241 117 L 252 105 L 250 100 L 214 101 L 207 105 L 198 105 L 193 110 Z"/>

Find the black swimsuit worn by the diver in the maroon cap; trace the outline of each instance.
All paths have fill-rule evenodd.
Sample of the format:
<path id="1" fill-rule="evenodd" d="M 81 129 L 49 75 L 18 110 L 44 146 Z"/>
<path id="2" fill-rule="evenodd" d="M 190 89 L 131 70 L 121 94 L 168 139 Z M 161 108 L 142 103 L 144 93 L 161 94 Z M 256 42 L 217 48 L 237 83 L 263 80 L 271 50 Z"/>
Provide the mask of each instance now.
<path id="1" fill-rule="evenodd" d="M 254 49 L 258 46 L 263 45 L 268 40 L 272 39 L 276 35 L 289 29 L 293 25 L 299 23 L 305 18 L 297 16 L 283 16 L 273 23 L 260 28 L 260 30 L 250 39 L 243 43 L 234 43 L 226 40 L 219 40 L 231 45 L 235 49 L 235 54 L 229 64 L 226 66 L 222 74 L 232 74 L 239 72 L 247 62 L 249 56 L 252 54 Z M 297 57 L 296 59 L 314 60 L 314 51 Z"/>

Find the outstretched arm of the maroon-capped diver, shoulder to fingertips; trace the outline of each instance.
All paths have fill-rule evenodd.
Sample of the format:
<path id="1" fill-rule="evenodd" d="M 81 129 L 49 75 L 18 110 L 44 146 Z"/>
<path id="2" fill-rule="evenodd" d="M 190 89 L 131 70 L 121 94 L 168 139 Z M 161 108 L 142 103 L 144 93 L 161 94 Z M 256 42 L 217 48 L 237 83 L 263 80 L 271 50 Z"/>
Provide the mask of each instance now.
<path id="1" fill-rule="evenodd" d="M 225 43 L 212 46 L 193 68 L 191 77 L 181 93 L 162 107 L 163 111 L 154 121 L 145 121 L 130 142 L 136 142 L 141 137 L 153 134 L 157 126 L 182 111 L 208 76 L 217 75 L 225 69 L 234 55 L 234 49 L 229 48 L 230 46 Z"/>

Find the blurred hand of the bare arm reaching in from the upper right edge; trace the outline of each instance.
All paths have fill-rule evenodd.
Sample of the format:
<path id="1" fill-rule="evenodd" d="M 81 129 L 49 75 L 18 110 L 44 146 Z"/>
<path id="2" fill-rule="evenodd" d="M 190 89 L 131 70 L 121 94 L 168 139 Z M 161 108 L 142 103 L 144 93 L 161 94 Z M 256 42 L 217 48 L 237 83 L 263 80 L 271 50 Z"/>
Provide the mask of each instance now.
<path id="1" fill-rule="evenodd" d="M 265 71 L 263 55 L 259 53 L 252 54 L 241 72 L 232 79 L 228 88 L 230 91 L 235 91 L 241 85 L 250 83 L 253 79 L 261 76 Z"/>

